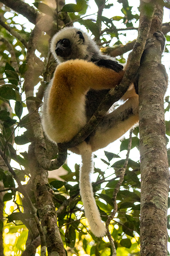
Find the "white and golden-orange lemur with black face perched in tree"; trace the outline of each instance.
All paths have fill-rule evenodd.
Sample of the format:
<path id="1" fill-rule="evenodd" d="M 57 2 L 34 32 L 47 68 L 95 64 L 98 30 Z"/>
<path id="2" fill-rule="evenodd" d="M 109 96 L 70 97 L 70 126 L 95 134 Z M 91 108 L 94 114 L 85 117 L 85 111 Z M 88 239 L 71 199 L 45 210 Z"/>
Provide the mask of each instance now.
<path id="1" fill-rule="evenodd" d="M 162 34 L 161 37 L 164 38 Z M 162 44 L 165 45 L 165 40 Z M 42 125 L 51 141 L 62 143 L 70 141 L 85 126 L 109 89 L 119 85 L 124 70 L 114 58 L 102 55 L 85 32 L 74 27 L 66 27 L 54 35 L 51 53 L 58 66 L 44 95 Z M 95 132 L 70 148 L 82 156 L 80 195 L 91 231 L 97 237 L 103 237 L 106 228 L 90 182 L 94 170 L 92 152 L 117 140 L 138 123 L 137 86 L 132 84 L 122 100 L 125 102 L 106 114 Z"/>

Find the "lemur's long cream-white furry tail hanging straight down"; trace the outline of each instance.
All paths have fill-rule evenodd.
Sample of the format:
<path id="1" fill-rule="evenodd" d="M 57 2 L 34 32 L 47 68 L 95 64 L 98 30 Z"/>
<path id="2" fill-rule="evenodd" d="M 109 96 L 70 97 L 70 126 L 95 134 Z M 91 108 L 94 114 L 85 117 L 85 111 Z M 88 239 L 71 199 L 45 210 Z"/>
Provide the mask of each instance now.
<path id="1" fill-rule="evenodd" d="M 96 237 L 103 237 L 106 233 L 106 227 L 101 221 L 100 213 L 96 205 L 93 195 L 92 185 L 90 182 L 90 174 L 94 169 L 93 154 L 91 146 L 86 142 L 79 145 L 80 154 L 82 156 L 82 166 L 80 168 L 80 195 L 82 198 L 86 218 L 92 233 Z"/>

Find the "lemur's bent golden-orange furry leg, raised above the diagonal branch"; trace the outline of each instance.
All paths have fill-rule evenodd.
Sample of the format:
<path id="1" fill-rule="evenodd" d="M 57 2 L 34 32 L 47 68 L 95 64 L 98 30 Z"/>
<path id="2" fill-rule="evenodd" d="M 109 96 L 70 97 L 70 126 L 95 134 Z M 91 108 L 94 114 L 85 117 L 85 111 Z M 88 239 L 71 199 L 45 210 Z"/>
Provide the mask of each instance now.
<path id="1" fill-rule="evenodd" d="M 51 139 L 65 142 L 72 139 L 86 124 L 85 95 L 92 89 L 109 89 L 120 83 L 119 73 L 85 60 L 69 60 L 56 67 L 49 90 L 48 113 Z M 71 113 L 71 114 L 70 114 Z"/>

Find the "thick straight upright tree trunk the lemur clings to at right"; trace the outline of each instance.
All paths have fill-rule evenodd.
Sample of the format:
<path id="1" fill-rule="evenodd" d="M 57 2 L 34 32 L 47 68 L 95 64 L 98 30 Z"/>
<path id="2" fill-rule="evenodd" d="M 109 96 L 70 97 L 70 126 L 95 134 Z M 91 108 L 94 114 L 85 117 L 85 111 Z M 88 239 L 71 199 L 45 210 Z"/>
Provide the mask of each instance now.
<path id="1" fill-rule="evenodd" d="M 151 2 L 153 4 L 153 2 Z M 141 15 L 147 4 L 141 1 Z M 162 29 L 163 6 L 156 4 L 149 37 Z M 139 28 L 140 29 L 140 28 Z M 139 133 L 141 161 L 141 256 L 167 255 L 169 170 L 166 150 L 162 51 L 156 40 L 139 70 Z"/>

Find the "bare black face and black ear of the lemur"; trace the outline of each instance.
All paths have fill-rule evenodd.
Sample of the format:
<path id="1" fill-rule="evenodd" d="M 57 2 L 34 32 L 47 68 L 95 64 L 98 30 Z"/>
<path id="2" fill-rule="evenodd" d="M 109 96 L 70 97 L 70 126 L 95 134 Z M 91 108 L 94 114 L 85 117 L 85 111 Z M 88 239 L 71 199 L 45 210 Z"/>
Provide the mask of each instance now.
<path id="1" fill-rule="evenodd" d="M 79 38 L 83 40 L 84 42 L 84 37 L 81 31 L 78 31 L 76 34 L 79 35 Z M 71 49 L 71 42 L 67 38 L 63 38 L 59 40 L 56 44 L 55 48 L 55 53 L 57 56 L 60 56 L 62 58 L 67 58 L 71 54 L 72 49 Z"/>

